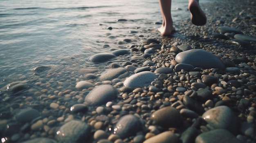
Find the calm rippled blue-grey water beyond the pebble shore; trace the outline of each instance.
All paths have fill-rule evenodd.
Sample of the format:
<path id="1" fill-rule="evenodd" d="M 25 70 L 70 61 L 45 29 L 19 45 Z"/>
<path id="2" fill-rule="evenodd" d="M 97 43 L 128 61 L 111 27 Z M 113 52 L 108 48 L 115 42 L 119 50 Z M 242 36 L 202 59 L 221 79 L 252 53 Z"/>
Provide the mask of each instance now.
<path id="1" fill-rule="evenodd" d="M 172 7 L 173 19 L 179 20 L 187 1 L 174 0 Z M 90 55 L 117 48 L 129 35 L 156 29 L 154 22 L 161 20 L 157 0 L 1 0 L 0 77 L 26 75 L 28 69 L 58 65 L 70 56 L 83 64 Z"/>

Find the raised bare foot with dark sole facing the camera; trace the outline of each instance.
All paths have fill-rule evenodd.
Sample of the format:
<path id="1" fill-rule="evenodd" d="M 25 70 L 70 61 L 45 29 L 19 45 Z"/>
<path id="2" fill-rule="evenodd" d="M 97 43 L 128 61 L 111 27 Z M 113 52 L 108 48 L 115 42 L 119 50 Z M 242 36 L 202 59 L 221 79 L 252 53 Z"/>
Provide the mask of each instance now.
<path id="1" fill-rule="evenodd" d="M 189 0 L 189 11 L 191 13 L 191 22 L 197 26 L 206 24 L 206 16 L 199 6 L 198 0 Z"/>

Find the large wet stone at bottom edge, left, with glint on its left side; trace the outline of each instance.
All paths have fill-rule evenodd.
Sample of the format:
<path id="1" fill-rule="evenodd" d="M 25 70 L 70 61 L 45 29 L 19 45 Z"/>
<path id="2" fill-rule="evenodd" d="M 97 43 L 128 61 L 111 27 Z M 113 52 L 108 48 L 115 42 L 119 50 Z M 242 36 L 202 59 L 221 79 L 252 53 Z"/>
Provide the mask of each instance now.
<path id="1" fill-rule="evenodd" d="M 90 126 L 83 121 L 69 121 L 56 132 L 56 139 L 61 143 L 85 143 L 88 137 Z"/>

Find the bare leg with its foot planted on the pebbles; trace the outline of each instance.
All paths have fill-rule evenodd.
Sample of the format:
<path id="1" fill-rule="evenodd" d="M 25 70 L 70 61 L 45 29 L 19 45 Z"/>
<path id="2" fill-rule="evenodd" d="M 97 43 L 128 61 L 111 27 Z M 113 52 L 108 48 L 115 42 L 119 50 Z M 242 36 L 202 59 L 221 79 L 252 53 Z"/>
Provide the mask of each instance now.
<path id="1" fill-rule="evenodd" d="M 161 35 L 171 35 L 175 28 L 173 27 L 173 20 L 171 18 L 171 0 L 159 0 L 159 6 L 162 13 L 162 26 L 157 30 Z"/>

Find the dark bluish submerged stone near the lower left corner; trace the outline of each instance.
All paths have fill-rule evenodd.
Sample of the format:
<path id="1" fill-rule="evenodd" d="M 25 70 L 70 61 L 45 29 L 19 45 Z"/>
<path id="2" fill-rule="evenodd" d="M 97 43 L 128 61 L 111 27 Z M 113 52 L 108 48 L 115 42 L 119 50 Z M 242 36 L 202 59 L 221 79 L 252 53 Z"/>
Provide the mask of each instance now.
<path id="1" fill-rule="evenodd" d="M 32 108 L 23 109 L 16 114 L 16 120 L 19 123 L 28 123 L 37 117 L 40 117 L 40 112 Z"/>

